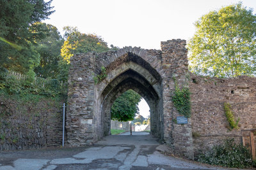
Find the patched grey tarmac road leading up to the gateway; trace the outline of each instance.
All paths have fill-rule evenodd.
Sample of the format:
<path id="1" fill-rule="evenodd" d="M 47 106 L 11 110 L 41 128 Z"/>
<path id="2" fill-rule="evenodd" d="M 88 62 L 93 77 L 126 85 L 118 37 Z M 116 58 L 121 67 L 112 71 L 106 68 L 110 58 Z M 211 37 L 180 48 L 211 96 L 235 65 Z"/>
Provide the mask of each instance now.
<path id="1" fill-rule="evenodd" d="M 95 145 L 0 153 L 0 170 L 26 169 L 221 169 L 166 157 L 150 135 L 116 135 Z"/>

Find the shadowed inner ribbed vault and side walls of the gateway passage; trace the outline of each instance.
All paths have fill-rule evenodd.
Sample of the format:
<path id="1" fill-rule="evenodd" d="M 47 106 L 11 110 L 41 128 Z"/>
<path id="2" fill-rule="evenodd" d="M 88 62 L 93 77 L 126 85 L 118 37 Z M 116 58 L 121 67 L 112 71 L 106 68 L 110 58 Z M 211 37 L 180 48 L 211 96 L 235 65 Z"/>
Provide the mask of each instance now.
<path id="1" fill-rule="evenodd" d="M 140 94 L 150 107 L 150 130 L 148 131 L 157 138 L 163 138 L 161 97 L 157 94 L 156 87 L 153 87 L 144 76 L 132 69 L 118 74 L 102 91 L 100 96 L 101 126 L 99 126 L 102 129 L 98 129 L 99 138 L 111 134 L 111 106 L 119 96 L 129 89 Z"/>

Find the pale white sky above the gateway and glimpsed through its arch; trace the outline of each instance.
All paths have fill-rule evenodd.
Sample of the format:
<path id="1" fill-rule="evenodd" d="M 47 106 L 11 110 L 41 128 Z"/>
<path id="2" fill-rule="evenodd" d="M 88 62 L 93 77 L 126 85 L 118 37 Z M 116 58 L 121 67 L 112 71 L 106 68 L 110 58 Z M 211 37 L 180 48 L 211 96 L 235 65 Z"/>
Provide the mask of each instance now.
<path id="1" fill-rule="evenodd" d="M 160 49 L 168 39 L 192 38 L 194 23 L 209 11 L 236 4 L 239 0 L 53 0 L 56 10 L 48 19 L 63 34 L 65 26 L 83 33 L 95 33 L 108 45 Z M 241 1 L 253 8 L 256 0 Z M 145 101 L 140 111 L 149 110 Z M 144 106 L 144 108 L 142 107 Z M 145 116 L 147 117 L 147 115 Z"/>

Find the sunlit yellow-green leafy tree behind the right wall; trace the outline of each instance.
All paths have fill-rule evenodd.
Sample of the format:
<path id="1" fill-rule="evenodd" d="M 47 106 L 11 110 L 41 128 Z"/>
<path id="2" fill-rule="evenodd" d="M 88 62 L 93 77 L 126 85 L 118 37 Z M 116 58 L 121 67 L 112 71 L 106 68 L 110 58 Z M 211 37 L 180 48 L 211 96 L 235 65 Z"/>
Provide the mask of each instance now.
<path id="1" fill-rule="evenodd" d="M 189 69 L 207 76 L 256 73 L 256 16 L 241 3 L 211 11 L 196 23 L 189 40 Z"/>

